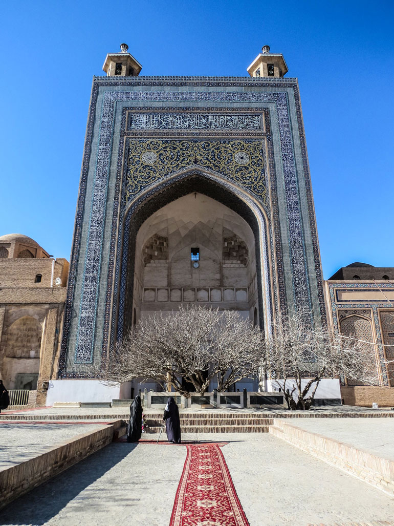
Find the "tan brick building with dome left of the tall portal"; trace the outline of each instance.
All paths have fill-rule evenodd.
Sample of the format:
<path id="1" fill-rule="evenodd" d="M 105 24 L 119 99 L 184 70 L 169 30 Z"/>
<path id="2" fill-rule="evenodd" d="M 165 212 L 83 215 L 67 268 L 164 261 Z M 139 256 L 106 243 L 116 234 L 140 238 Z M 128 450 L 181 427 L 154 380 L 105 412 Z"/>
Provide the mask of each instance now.
<path id="1" fill-rule="evenodd" d="M 56 378 L 68 261 L 22 234 L 0 237 L 0 371 L 7 389 L 45 405 Z M 27 399 L 23 400 L 27 402 Z"/>

